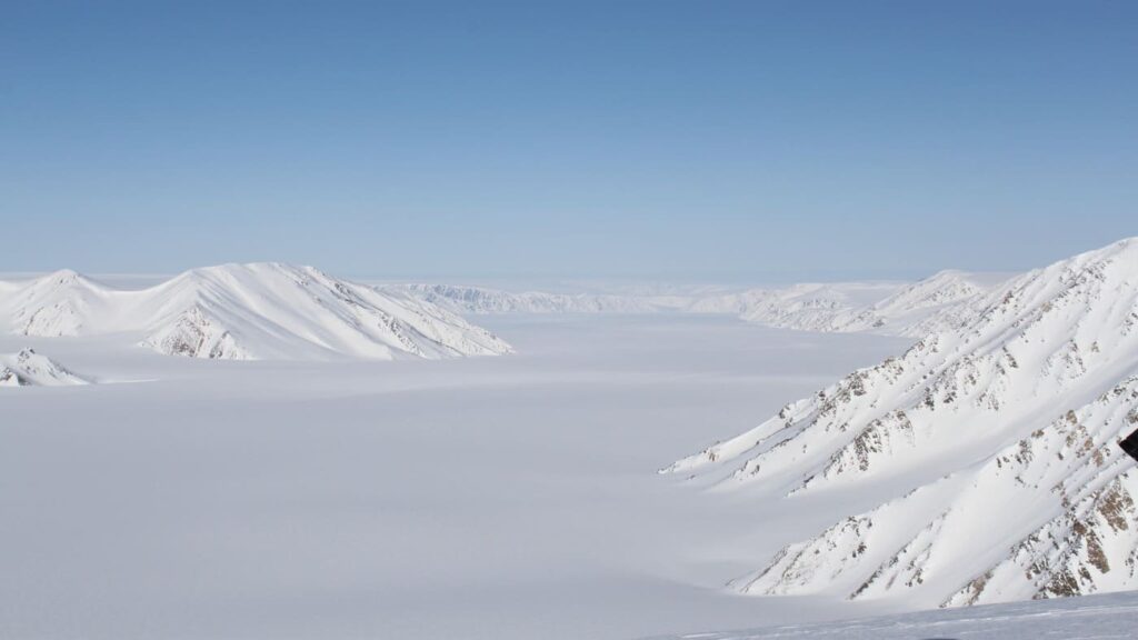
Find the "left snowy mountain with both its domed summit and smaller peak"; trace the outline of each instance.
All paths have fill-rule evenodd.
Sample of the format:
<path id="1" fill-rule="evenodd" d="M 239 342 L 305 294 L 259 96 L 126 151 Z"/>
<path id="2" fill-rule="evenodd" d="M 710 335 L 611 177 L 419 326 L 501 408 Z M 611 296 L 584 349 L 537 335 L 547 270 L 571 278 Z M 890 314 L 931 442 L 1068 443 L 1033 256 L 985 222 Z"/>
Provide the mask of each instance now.
<path id="1" fill-rule="evenodd" d="M 493 355 L 510 346 L 414 296 L 311 266 L 226 264 L 121 290 L 73 271 L 0 289 L 0 321 L 26 336 L 137 333 L 159 353 L 211 359 Z"/>

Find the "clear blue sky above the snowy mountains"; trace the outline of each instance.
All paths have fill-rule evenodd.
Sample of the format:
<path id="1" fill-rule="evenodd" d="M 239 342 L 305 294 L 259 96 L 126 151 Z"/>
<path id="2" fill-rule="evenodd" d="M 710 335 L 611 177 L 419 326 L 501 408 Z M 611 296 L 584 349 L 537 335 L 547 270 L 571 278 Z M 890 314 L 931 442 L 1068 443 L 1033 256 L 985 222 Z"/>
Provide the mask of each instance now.
<path id="1" fill-rule="evenodd" d="M 1138 2 L 0 5 L 0 271 L 908 277 L 1138 235 Z"/>

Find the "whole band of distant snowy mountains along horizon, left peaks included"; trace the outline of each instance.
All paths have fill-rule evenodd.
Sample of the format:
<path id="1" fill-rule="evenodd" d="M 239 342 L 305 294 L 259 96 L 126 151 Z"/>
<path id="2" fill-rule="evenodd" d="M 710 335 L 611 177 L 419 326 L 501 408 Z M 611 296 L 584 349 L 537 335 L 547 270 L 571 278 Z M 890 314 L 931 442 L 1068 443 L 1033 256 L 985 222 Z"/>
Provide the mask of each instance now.
<path id="1" fill-rule="evenodd" d="M 912 285 L 839 282 L 739 293 L 513 293 L 473 286 L 385 285 L 279 263 L 195 269 L 146 289 L 69 270 L 0 281 L 0 328 L 25 336 L 139 334 L 159 353 L 222 360 L 510 353 L 462 315 L 724 313 L 773 327 L 916 336 L 975 311 L 991 279 L 946 271 Z"/>

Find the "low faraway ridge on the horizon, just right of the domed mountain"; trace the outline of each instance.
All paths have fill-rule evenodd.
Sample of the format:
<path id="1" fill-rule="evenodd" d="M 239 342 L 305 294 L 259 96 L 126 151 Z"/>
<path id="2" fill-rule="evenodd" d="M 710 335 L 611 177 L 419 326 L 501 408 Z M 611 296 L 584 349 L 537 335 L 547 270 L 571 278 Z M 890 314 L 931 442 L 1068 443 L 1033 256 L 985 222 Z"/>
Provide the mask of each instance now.
<path id="1" fill-rule="evenodd" d="M 387 285 L 385 293 L 412 295 L 454 313 L 653 313 L 688 303 L 685 296 L 513 293 L 457 285 Z"/>

